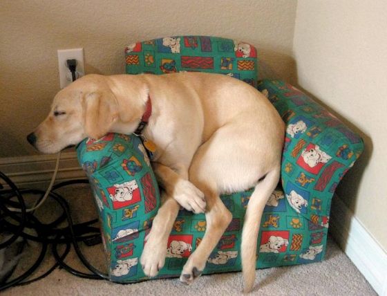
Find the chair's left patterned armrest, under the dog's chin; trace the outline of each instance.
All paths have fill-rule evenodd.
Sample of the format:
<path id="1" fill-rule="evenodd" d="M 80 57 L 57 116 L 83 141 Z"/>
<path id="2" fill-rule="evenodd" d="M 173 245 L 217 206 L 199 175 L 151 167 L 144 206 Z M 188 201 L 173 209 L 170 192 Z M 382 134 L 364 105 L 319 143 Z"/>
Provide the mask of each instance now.
<path id="1" fill-rule="evenodd" d="M 124 276 L 116 266 L 128 267 L 126 278 L 144 277 L 138 258 L 160 207 L 160 192 L 140 138 L 118 133 L 87 138 L 77 146 L 77 156 L 100 214 L 111 280 Z"/>

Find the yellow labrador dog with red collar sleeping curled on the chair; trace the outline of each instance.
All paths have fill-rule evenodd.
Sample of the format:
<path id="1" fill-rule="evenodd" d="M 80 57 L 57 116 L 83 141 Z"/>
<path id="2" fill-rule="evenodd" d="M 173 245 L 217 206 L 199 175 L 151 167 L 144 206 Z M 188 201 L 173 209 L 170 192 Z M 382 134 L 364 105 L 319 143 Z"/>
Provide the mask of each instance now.
<path id="1" fill-rule="evenodd" d="M 55 153 L 86 137 L 133 133 L 147 105 L 144 136 L 157 151 L 152 166 L 164 188 L 140 262 L 157 275 L 180 205 L 205 212 L 207 230 L 183 267 L 191 284 L 232 220 L 220 194 L 255 187 L 249 199 L 241 256 L 245 291 L 255 277 L 256 244 L 263 207 L 280 176 L 284 123 L 265 95 L 227 75 L 86 75 L 59 91 L 50 114 L 28 140 Z"/>

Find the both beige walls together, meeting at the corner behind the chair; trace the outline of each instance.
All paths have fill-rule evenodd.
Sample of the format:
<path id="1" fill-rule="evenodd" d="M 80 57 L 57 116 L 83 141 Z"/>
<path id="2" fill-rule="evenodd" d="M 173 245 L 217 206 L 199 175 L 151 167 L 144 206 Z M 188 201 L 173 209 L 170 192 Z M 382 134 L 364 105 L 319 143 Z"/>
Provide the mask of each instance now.
<path id="1" fill-rule="evenodd" d="M 261 77 L 298 76 L 299 86 L 361 133 L 366 151 L 338 192 L 387 250 L 387 8 L 370 3 L 2 0 L 0 158 L 36 153 L 25 136 L 59 90 L 57 49 L 84 47 L 87 73 L 114 74 L 124 72 L 123 48 L 133 41 L 243 39 L 258 47 Z"/>

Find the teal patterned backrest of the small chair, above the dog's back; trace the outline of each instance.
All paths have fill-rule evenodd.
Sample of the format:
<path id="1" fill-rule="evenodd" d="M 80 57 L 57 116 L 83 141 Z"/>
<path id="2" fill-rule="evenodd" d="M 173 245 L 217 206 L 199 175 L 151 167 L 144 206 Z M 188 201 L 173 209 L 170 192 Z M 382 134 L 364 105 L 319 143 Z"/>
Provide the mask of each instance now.
<path id="1" fill-rule="evenodd" d="M 126 46 L 126 73 L 180 71 L 221 73 L 256 87 L 256 48 L 246 42 L 209 36 L 176 36 Z"/>

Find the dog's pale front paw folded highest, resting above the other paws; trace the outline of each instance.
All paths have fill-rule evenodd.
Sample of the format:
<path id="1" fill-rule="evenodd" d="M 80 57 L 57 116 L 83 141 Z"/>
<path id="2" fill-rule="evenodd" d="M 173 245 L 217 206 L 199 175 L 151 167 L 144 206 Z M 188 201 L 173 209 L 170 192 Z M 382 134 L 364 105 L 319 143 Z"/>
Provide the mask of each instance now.
<path id="1" fill-rule="evenodd" d="M 187 180 L 180 180 L 176 183 L 173 198 L 188 211 L 196 214 L 205 212 L 205 194 Z"/>

